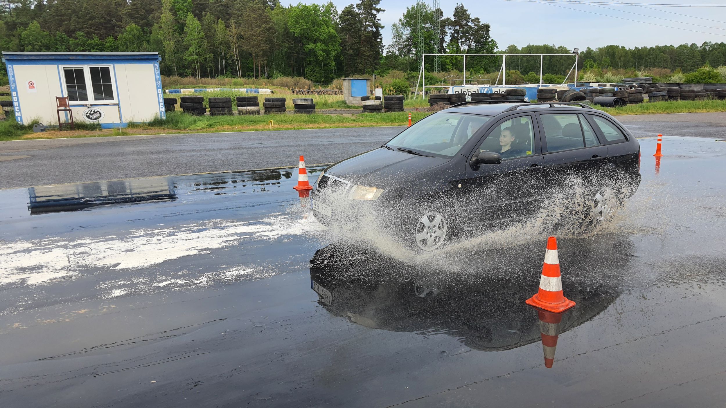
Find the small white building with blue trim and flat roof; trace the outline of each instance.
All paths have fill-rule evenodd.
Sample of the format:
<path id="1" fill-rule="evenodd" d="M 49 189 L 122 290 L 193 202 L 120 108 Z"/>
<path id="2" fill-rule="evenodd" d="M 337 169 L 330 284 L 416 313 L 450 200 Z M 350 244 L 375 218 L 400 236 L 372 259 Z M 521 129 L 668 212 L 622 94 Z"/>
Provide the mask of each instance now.
<path id="1" fill-rule="evenodd" d="M 76 122 L 102 128 L 165 118 L 158 52 L 3 52 L 2 60 L 18 123 L 57 125 L 55 97 L 68 97 Z"/>

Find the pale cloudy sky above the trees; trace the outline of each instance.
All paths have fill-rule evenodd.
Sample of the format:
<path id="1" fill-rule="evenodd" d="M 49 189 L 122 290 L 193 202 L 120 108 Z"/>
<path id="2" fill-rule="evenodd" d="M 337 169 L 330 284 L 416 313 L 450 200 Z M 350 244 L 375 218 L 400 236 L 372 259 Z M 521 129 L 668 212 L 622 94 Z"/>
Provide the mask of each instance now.
<path id="1" fill-rule="evenodd" d="M 321 4 L 326 1 L 303 1 L 303 3 Z M 560 2 L 556 5 L 527 0 L 460 0 L 459 2 L 464 3 L 472 17 L 479 17 L 492 25 L 492 37 L 500 48 L 506 48 L 509 44 L 517 46 L 555 44 L 584 49 L 587 46 L 595 48 L 608 44 L 633 47 L 684 43 L 700 45 L 704 41 L 726 41 L 726 7 L 638 7 L 612 4 L 622 2 L 726 5 L 726 0 L 588 0 L 588 2 L 611 3 L 599 6 L 577 4 L 575 1 L 572 3 L 556 1 Z M 333 0 L 338 6 L 338 11 L 355 2 L 356 0 Z M 384 44 L 391 42 L 391 24 L 396 23 L 406 8 L 414 3 L 414 0 L 380 2 L 380 7 L 386 10 L 380 15 L 381 23 L 386 25 L 383 30 Z M 431 4 L 431 1 L 428 3 Z M 457 1 L 441 0 L 444 15 L 451 16 L 456 4 Z"/>

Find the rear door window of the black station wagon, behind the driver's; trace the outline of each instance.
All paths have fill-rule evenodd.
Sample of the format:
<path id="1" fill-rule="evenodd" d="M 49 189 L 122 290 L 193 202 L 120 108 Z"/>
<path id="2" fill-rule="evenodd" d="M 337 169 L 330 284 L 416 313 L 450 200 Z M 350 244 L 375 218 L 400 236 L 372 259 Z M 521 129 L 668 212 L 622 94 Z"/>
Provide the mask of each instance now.
<path id="1" fill-rule="evenodd" d="M 547 114 L 540 115 L 539 118 L 544 128 L 547 152 L 560 152 L 600 144 L 595 132 L 590 128 L 590 124 L 579 113 Z"/>

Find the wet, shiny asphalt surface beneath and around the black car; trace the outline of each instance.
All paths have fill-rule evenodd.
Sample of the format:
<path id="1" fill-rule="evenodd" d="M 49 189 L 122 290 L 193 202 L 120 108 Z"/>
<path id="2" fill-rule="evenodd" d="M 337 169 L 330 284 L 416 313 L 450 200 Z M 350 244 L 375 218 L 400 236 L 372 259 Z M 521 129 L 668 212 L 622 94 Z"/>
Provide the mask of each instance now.
<path id="1" fill-rule="evenodd" d="M 726 142 L 640 142 L 616 219 L 558 235 L 552 368 L 533 225 L 404 256 L 294 169 L 0 191 L 2 406 L 722 407 Z"/>

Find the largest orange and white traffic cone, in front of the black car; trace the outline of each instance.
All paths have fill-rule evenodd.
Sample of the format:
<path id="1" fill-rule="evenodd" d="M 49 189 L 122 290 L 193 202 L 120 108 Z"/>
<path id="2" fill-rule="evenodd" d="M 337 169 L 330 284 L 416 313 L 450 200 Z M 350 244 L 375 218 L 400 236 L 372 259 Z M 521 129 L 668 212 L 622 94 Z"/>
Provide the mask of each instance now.
<path id="1" fill-rule="evenodd" d="M 547 239 L 547 252 L 544 253 L 542 277 L 539 279 L 539 291 L 525 301 L 529 306 L 560 313 L 575 306 L 575 302 L 562 293 L 560 277 L 560 259 L 557 256 L 557 238 Z"/>

